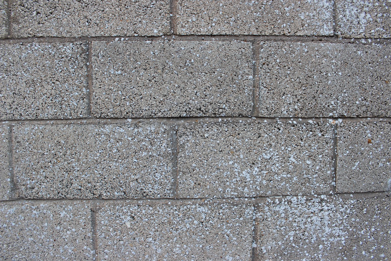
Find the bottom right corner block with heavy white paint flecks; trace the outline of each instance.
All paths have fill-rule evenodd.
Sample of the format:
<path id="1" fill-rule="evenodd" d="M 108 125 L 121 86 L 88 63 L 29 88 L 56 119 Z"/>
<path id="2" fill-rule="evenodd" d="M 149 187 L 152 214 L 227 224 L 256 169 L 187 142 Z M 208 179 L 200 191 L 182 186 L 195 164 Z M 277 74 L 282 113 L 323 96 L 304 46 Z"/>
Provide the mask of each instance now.
<path id="1" fill-rule="evenodd" d="M 389 195 L 266 199 L 256 260 L 390 260 L 390 207 Z"/>

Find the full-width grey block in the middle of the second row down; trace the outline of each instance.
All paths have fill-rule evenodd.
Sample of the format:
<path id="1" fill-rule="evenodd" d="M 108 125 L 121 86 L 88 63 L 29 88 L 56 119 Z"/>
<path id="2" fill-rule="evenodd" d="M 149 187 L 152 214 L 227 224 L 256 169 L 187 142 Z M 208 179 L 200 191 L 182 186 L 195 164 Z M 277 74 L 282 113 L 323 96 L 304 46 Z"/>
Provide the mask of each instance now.
<path id="1" fill-rule="evenodd" d="M 94 116 L 249 115 L 253 58 L 248 42 L 93 42 Z"/>

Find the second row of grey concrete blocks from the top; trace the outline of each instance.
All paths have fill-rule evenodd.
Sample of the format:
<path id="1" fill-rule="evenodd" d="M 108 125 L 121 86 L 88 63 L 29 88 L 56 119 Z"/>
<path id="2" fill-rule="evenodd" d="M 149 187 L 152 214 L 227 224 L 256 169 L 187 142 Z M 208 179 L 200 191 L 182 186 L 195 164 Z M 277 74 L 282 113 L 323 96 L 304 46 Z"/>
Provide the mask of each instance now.
<path id="1" fill-rule="evenodd" d="M 390 117 L 388 42 L 0 45 L 0 119 Z"/>

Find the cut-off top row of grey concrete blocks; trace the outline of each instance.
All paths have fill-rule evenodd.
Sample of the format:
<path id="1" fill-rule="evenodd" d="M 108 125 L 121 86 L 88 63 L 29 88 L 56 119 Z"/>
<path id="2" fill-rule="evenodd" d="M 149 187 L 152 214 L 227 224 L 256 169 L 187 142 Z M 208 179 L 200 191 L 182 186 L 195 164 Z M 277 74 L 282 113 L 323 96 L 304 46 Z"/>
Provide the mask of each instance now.
<path id="1" fill-rule="evenodd" d="M 3 0 L 0 37 L 174 33 L 390 38 L 390 9 L 389 0 Z"/>

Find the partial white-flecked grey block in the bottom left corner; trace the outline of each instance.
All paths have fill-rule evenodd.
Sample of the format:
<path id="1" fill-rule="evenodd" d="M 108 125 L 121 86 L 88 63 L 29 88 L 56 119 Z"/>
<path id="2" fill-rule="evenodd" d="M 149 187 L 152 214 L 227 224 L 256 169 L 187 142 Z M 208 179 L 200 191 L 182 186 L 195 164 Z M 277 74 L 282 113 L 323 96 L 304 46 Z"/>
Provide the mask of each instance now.
<path id="1" fill-rule="evenodd" d="M 0 259 L 92 260 L 91 208 L 85 201 L 0 205 Z"/>

